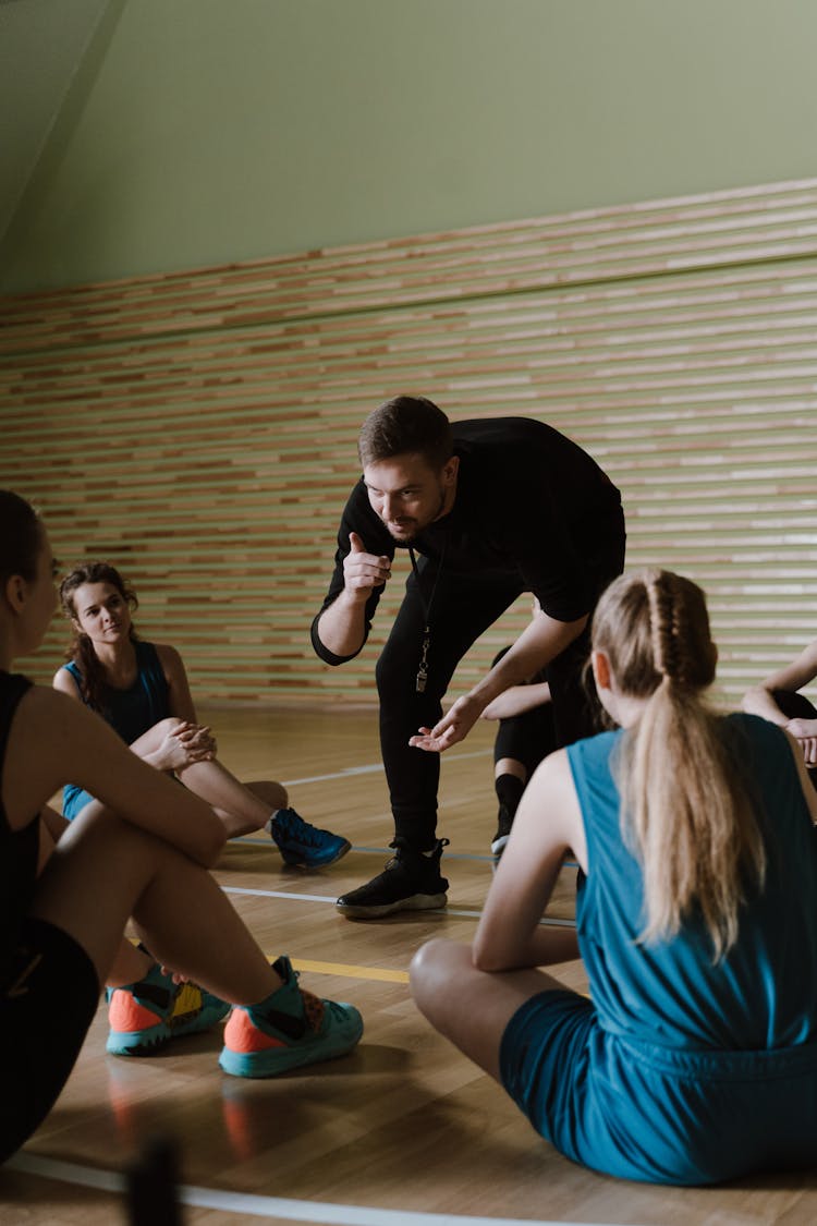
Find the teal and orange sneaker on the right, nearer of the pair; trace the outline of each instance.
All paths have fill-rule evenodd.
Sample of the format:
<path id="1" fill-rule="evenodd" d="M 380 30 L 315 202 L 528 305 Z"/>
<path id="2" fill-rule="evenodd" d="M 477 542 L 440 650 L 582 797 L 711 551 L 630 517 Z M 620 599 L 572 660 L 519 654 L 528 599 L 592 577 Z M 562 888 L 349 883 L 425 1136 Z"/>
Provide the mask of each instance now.
<path id="1" fill-rule="evenodd" d="M 318 1000 L 298 986 L 288 958 L 273 962 L 284 981 L 266 1000 L 235 1005 L 224 1027 L 219 1064 L 232 1076 L 278 1076 L 289 1069 L 345 1056 L 363 1035 L 350 1004 Z"/>

